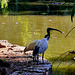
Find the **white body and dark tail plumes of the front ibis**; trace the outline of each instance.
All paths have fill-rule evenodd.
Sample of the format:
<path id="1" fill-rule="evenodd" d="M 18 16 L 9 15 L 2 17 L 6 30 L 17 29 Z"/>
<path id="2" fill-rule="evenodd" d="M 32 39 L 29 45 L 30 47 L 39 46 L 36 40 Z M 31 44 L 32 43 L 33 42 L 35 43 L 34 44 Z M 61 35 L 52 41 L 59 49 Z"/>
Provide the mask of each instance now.
<path id="1" fill-rule="evenodd" d="M 36 44 L 34 51 L 33 51 L 33 56 L 36 56 L 39 53 L 44 53 L 47 48 L 48 48 L 48 40 L 47 38 L 44 38 Z"/>

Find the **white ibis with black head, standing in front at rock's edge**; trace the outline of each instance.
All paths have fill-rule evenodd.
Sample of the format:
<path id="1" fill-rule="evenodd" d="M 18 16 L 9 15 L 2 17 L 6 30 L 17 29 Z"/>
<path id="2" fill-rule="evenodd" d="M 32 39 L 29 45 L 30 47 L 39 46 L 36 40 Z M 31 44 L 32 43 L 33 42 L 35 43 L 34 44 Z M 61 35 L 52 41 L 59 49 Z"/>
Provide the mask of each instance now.
<path id="1" fill-rule="evenodd" d="M 50 38 L 50 31 L 51 30 L 56 30 L 59 31 L 60 33 L 62 33 L 60 30 L 58 29 L 54 29 L 54 28 L 47 28 L 47 35 L 45 35 L 45 38 L 43 38 L 42 40 L 40 40 L 38 43 L 36 43 L 34 51 L 33 51 L 33 61 L 34 57 L 38 56 L 39 54 L 42 53 L 42 61 L 43 61 L 43 57 L 44 57 L 44 53 L 48 48 L 48 40 Z M 38 59 L 38 58 L 37 58 Z M 43 61 L 44 63 L 44 61 Z"/>

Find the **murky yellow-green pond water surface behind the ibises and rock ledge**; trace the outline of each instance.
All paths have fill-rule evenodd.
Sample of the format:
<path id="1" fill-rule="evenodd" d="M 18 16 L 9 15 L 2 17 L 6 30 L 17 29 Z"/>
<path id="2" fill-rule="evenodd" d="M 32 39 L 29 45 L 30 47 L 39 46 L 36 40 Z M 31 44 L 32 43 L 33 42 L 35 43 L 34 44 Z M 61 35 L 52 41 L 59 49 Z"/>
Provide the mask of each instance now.
<path id="1" fill-rule="evenodd" d="M 48 27 L 59 29 L 63 34 L 57 31 L 51 31 L 49 46 L 45 52 L 45 58 L 51 63 L 66 51 L 75 50 L 75 29 L 65 38 L 65 35 L 75 26 L 70 16 L 0 16 L 0 39 L 8 40 L 13 44 L 27 46 L 31 41 L 44 38 Z M 66 53 L 67 54 L 67 53 Z M 65 55 L 66 55 L 65 54 Z M 63 55 L 61 58 L 63 58 Z M 60 63 L 61 58 L 53 64 L 54 75 L 72 75 L 75 72 L 75 54 L 70 54 L 63 60 L 63 63 L 55 70 Z M 72 65 L 70 65 L 73 63 Z M 70 65 L 70 66 L 69 66 Z M 68 67 L 69 66 L 69 67 Z M 69 70 L 71 72 L 69 72 Z"/>

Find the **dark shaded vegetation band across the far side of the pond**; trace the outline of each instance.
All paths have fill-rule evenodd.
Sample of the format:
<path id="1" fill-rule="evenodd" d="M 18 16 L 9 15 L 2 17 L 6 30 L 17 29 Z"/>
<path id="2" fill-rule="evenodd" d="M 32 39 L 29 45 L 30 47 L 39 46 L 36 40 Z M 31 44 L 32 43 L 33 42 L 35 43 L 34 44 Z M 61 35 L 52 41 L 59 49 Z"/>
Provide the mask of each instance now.
<path id="1" fill-rule="evenodd" d="M 75 9 L 73 2 L 74 0 L 9 0 L 8 3 L 8 0 L 2 0 L 1 8 L 6 9 L 8 7 L 6 11 L 10 13 L 16 12 L 16 14 L 22 14 L 24 11 L 29 13 L 30 11 L 29 14 L 33 15 L 71 15 L 71 21 L 73 22 Z M 5 10 L 2 11 L 6 13 Z M 32 13 L 32 11 L 34 12 Z"/>

